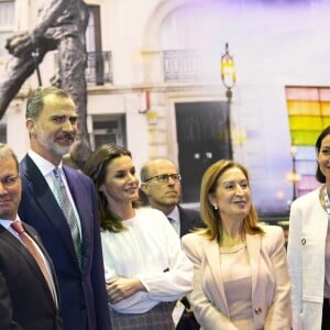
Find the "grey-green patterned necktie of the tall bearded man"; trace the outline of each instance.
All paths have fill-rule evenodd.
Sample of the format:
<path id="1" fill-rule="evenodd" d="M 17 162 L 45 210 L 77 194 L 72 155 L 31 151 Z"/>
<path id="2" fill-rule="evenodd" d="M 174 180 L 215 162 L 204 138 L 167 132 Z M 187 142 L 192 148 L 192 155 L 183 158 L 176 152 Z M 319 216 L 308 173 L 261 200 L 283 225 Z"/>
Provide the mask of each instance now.
<path id="1" fill-rule="evenodd" d="M 69 226 L 78 263 L 81 266 L 81 260 L 82 260 L 82 242 L 80 238 L 79 232 L 79 226 L 78 226 L 78 219 L 75 215 L 73 205 L 70 204 L 69 197 L 67 195 L 66 188 L 64 186 L 62 175 L 61 175 L 61 168 L 56 167 L 54 170 L 54 188 L 55 188 L 55 197 L 58 202 L 58 205 L 62 208 L 62 211 L 67 220 L 67 223 Z"/>

